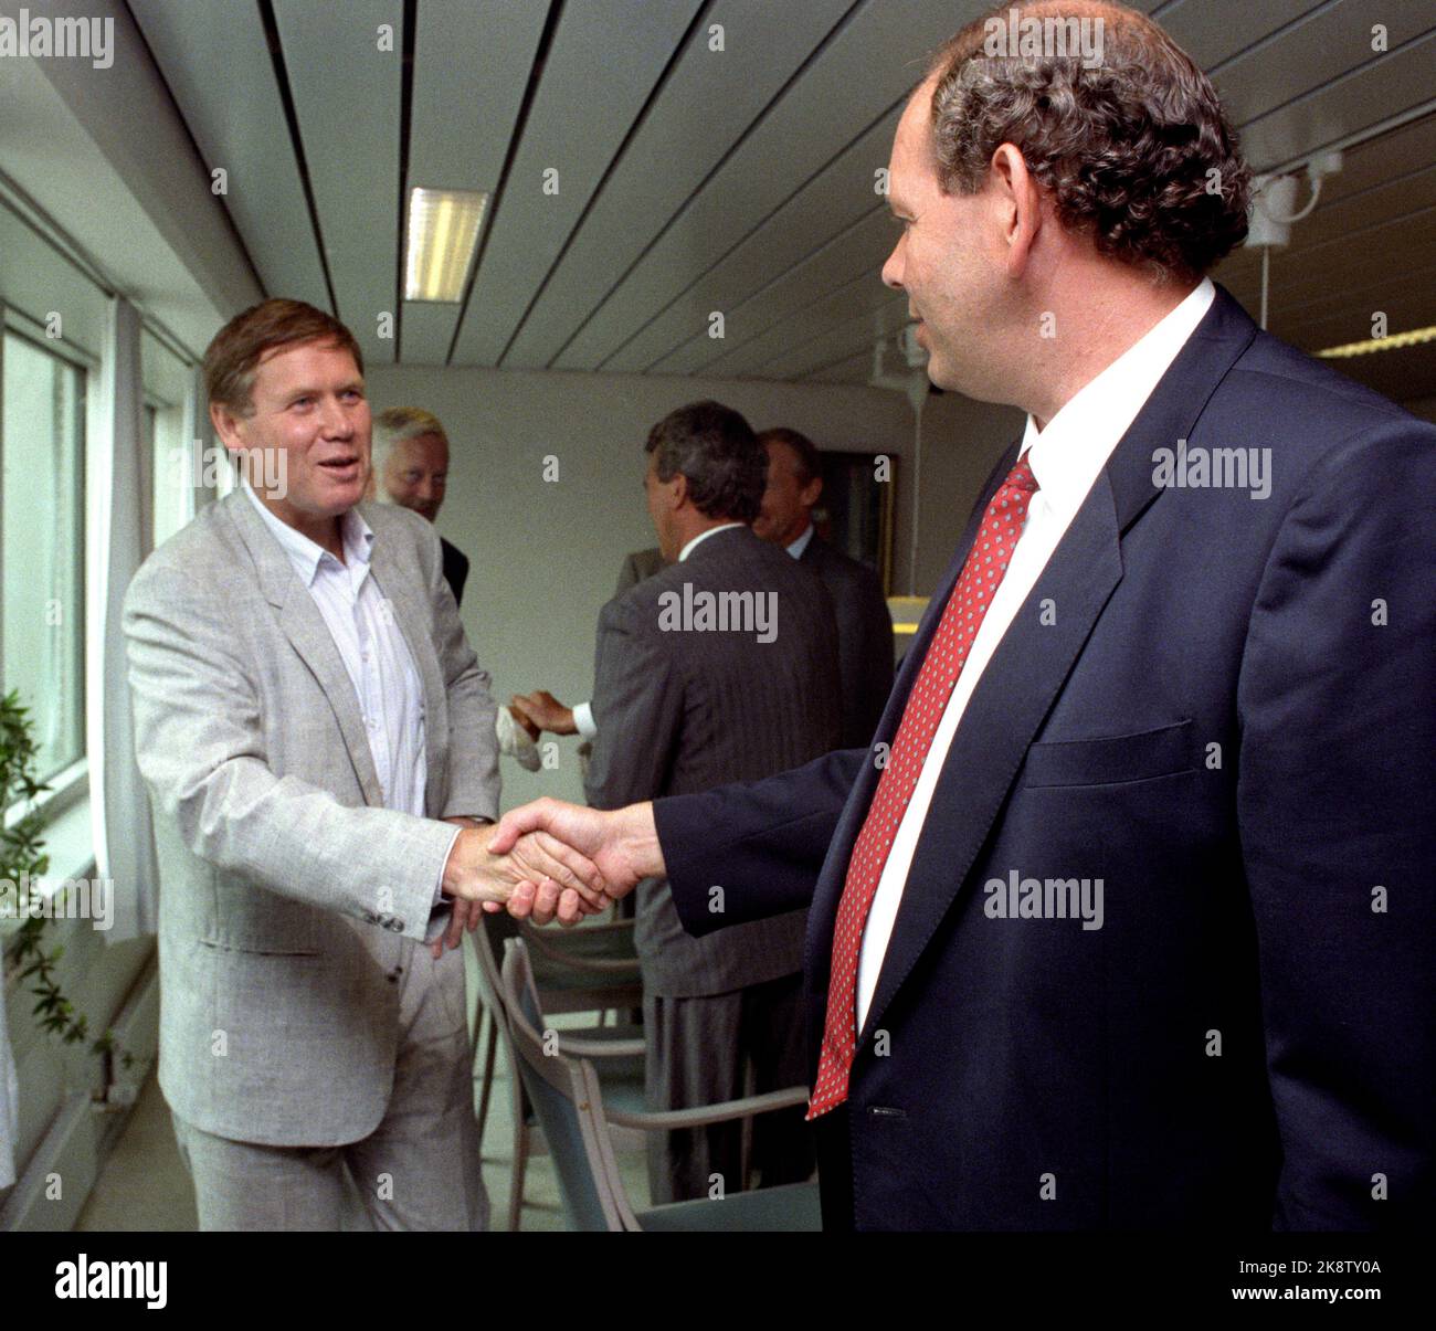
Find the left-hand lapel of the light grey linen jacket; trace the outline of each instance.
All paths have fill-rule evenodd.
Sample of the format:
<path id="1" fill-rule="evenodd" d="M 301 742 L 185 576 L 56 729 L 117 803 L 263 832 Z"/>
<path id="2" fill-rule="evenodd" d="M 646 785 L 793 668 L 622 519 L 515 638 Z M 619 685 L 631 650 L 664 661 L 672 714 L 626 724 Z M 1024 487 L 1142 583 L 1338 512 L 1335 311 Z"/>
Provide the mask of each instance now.
<path id="1" fill-rule="evenodd" d="M 335 721 L 340 735 L 343 735 L 345 748 L 349 751 L 350 762 L 353 762 L 365 803 L 382 805 L 383 791 L 373 768 L 373 755 L 369 751 L 369 737 L 359 711 L 359 698 L 349 679 L 349 672 L 345 669 L 339 648 L 335 646 L 329 633 L 329 626 L 319 613 L 319 606 L 314 604 L 309 589 L 299 580 L 289 556 L 264 527 L 264 520 L 254 511 L 248 497 L 240 490 L 234 490 L 221 503 L 228 507 L 240 538 L 254 560 L 260 589 L 264 599 L 274 606 L 280 629 L 290 646 L 309 666 L 314 682 L 333 708 Z"/>

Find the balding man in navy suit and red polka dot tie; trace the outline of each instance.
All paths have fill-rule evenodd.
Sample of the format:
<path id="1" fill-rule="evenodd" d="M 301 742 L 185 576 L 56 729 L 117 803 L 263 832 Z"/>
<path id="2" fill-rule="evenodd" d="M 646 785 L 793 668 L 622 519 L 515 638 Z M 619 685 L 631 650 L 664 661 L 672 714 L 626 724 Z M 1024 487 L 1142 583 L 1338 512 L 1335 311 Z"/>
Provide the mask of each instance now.
<path id="1" fill-rule="evenodd" d="M 870 749 L 612 814 L 704 933 L 811 903 L 824 1223 L 1366 1229 L 1432 1195 L 1436 429 L 1205 273 L 1249 172 L 1200 70 L 982 20 L 902 118 L 883 270 L 1028 414 Z M 1004 20 L 1005 22 L 1005 20 Z M 707 910 L 708 884 L 729 887 Z M 524 886 L 514 913 L 573 917 Z"/>

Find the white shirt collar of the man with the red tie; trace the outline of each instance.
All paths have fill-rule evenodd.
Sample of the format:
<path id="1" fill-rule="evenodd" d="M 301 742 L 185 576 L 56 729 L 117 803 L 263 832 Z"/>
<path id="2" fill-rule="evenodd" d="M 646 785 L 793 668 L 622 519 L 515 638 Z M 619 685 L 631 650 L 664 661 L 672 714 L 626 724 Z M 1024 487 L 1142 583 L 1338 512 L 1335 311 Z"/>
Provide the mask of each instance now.
<path id="1" fill-rule="evenodd" d="M 1028 415 L 1018 457 L 1027 457 L 1037 478 L 1034 503 L 1064 515 L 1081 507 L 1097 472 L 1215 299 L 1216 287 L 1203 277 L 1176 309 L 1068 398 L 1045 429 L 1038 431 Z"/>

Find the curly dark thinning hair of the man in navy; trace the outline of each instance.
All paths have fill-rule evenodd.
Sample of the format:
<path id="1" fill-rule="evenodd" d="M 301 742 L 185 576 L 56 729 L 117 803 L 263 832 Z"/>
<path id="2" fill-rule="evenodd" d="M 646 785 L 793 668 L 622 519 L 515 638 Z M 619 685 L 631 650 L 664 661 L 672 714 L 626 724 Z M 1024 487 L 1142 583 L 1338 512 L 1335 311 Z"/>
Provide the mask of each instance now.
<path id="1" fill-rule="evenodd" d="M 992 23 L 1101 20 L 1100 57 L 1076 43 L 1017 55 Z M 995 49 L 998 55 L 991 52 Z M 1067 53 L 1058 53 L 1066 50 Z M 1012 144 L 1061 224 L 1100 254 L 1193 281 L 1246 237 L 1251 168 L 1216 89 L 1160 27 L 1120 4 L 1001 4 L 948 40 L 929 67 L 943 192 L 975 194 Z"/>

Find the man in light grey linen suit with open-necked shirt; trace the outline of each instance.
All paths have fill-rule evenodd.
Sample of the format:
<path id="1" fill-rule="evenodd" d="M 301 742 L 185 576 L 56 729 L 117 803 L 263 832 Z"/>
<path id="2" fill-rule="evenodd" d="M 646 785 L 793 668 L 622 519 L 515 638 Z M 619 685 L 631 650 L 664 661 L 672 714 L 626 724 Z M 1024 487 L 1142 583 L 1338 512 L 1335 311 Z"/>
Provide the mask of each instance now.
<path id="1" fill-rule="evenodd" d="M 205 379 L 241 482 L 125 604 L 159 850 L 159 1084 L 200 1223 L 339 1228 L 348 1170 L 375 1228 L 480 1229 L 464 969 L 438 939 L 521 882 L 596 897 L 599 880 L 551 843 L 485 850 L 488 675 L 434 528 L 359 505 L 349 330 L 264 302 L 214 339 Z"/>

